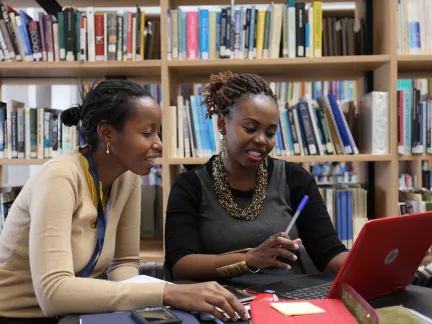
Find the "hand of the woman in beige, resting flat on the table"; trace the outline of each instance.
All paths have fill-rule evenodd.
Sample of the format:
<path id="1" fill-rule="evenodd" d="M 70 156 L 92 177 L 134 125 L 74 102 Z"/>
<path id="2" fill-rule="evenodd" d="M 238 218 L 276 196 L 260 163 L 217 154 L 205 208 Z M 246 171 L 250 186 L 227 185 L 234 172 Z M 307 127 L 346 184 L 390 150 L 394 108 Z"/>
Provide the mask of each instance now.
<path id="1" fill-rule="evenodd" d="M 163 303 L 185 311 L 207 312 L 226 321 L 224 311 L 233 321 L 249 319 L 249 314 L 240 301 L 217 282 L 188 285 L 167 284 L 163 292 Z"/>

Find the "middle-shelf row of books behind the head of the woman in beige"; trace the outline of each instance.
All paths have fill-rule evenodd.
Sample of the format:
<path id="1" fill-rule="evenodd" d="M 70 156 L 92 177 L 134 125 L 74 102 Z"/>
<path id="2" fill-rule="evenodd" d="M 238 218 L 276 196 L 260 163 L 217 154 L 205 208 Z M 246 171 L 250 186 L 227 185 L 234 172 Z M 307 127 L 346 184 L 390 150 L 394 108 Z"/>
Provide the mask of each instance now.
<path id="1" fill-rule="evenodd" d="M 141 85 L 158 102 L 161 86 Z M 0 158 L 48 159 L 83 145 L 79 126 L 67 127 L 60 116 L 63 110 L 29 107 L 18 100 L 0 102 Z"/>

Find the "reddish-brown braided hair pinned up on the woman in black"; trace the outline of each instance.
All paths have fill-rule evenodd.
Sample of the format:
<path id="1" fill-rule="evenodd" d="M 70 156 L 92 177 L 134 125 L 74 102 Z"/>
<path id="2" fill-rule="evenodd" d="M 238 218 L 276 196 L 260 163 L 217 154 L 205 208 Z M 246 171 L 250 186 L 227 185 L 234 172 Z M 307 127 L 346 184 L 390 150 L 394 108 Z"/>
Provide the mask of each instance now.
<path id="1" fill-rule="evenodd" d="M 213 74 L 210 83 L 206 85 L 202 94 L 203 104 L 207 106 L 206 117 L 212 115 L 227 116 L 236 100 L 243 96 L 265 95 L 277 102 L 272 89 L 267 82 L 256 74 L 234 74 L 230 71 Z"/>

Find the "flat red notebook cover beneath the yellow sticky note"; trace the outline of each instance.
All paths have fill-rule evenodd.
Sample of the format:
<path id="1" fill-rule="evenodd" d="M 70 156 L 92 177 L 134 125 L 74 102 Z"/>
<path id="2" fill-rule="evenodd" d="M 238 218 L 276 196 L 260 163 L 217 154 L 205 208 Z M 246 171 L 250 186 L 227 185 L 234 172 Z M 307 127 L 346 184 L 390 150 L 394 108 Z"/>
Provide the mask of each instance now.
<path id="1" fill-rule="evenodd" d="M 309 302 L 325 310 L 324 313 L 285 316 L 270 306 L 270 303 Z M 343 302 L 339 299 L 253 301 L 251 303 L 253 324 L 358 324 Z"/>

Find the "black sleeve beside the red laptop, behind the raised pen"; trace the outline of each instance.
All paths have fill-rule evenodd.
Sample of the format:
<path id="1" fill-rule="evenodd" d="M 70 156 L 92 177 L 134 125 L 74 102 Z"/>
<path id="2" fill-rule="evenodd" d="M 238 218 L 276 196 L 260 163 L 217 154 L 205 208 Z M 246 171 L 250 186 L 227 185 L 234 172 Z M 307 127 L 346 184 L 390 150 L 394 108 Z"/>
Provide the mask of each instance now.
<path id="1" fill-rule="evenodd" d="M 318 270 L 323 271 L 336 255 L 347 250 L 339 240 L 313 176 L 301 166 L 288 162 L 286 174 L 294 210 L 304 195 L 309 196 L 296 224 L 307 253 Z"/>

